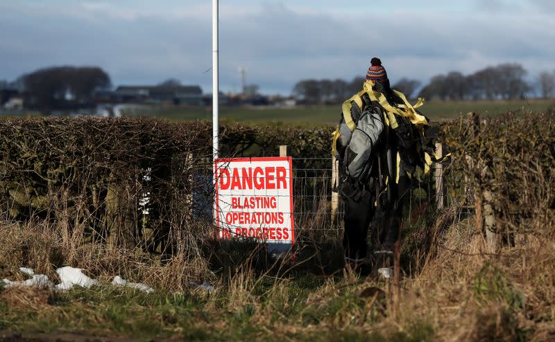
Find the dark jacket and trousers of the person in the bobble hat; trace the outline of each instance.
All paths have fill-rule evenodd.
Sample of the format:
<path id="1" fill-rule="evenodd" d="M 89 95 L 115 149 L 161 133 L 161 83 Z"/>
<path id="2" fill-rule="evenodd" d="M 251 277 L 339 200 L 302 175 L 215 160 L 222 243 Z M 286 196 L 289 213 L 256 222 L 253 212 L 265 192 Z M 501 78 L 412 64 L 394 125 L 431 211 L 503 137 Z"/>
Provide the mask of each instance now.
<path id="1" fill-rule="evenodd" d="M 389 87 L 388 80 L 375 82 L 375 90 L 384 93 L 391 104 L 403 103 Z M 382 114 L 377 102 L 371 102 L 368 96 L 362 99 L 364 110 L 353 106 L 353 120 L 359 118 L 359 111 L 372 110 Z M 347 262 L 357 264 L 362 260 L 369 261 L 375 269 L 393 266 L 393 248 L 400 239 L 403 205 L 411 189 L 411 179 L 407 173 L 412 174 L 419 161 L 415 148 L 417 133 L 407 118 L 398 116 L 397 122 L 396 129 L 386 127 L 379 143 L 373 147 L 373 155 L 368 160 L 371 166 L 364 179 L 353 180 L 345 172 L 341 174 L 340 190 L 345 204 L 343 249 Z M 340 156 L 345 154 L 344 151 L 338 148 Z M 400 172 L 396 183 L 398 153 Z M 340 170 L 343 170 L 342 159 Z M 370 255 L 367 255 L 366 242 L 368 228 L 371 228 Z"/>

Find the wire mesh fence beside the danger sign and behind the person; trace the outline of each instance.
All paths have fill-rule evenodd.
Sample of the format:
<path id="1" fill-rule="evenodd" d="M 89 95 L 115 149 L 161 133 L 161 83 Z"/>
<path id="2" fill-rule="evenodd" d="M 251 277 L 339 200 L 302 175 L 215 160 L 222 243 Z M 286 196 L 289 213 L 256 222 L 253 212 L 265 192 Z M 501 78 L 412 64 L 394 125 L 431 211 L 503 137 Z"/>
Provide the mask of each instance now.
<path id="1" fill-rule="evenodd" d="M 322 240 L 325 237 L 339 237 L 343 234 L 344 207 L 341 197 L 334 194 L 334 168 L 332 158 L 292 158 L 293 222 L 296 241 Z M 207 159 L 203 165 L 196 165 L 194 192 L 194 219 L 210 222 L 214 188 L 212 172 L 214 165 Z M 441 178 L 441 193 L 438 192 L 438 178 Z M 200 180 L 200 181 L 199 181 Z M 443 206 L 458 206 L 459 219 L 472 213 L 472 201 L 468 195 L 468 182 L 462 173 L 444 165 L 434 165 L 429 174 L 416 172 L 412 179 L 409 200 L 404 208 L 404 218 L 415 221 L 437 210 L 438 197 Z M 339 197 L 336 208 L 333 197 Z M 213 222 L 212 222 L 213 224 Z M 217 229 L 217 226 L 214 225 Z"/>

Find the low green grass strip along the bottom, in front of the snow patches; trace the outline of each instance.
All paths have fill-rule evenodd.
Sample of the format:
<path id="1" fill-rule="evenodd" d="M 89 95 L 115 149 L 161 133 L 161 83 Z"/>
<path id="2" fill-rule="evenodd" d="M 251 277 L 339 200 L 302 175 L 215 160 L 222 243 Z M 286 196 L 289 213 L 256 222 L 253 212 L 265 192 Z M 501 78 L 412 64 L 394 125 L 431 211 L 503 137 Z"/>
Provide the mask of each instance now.
<path id="1" fill-rule="evenodd" d="M 280 280 L 279 285 L 270 277 L 262 278 L 239 297 L 232 293 L 237 286 L 214 293 L 191 289 L 183 294 L 74 288 L 51 294 L 48 303 L 38 307 L 10 306 L 0 300 L 0 329 L 133 336 L 142 341 L 169 337 L 186 341 L 425 341 L 433 335 L 432 326 L 425 322 L 410 323 L 402 331 L 368 331 L 384 319 L 384 312 L 376 308 L 385 307 L 386 299 L 359 296 L 367 286 L 360 281 L 334 282 L 297 274 Z"/>

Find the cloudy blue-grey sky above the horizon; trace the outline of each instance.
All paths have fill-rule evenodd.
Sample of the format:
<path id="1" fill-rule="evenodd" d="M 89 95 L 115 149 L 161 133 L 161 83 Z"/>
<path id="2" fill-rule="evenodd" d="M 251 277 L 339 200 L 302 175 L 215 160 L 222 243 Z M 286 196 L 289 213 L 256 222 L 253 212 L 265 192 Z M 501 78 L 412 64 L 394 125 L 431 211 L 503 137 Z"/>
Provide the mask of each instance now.
<path id="1" fill-rule="evenodd" d="M 426 82 L 520 62 L 555 69 L 552 0 L 220 0 L 221 89 L 239 67 L 263 93 L 303 78 L 364 75 Z M 0 80 L 53 65 L 97 65 L 114 85 L 177 78 L 212 91 L 210 0 L 0 0 Z"/>

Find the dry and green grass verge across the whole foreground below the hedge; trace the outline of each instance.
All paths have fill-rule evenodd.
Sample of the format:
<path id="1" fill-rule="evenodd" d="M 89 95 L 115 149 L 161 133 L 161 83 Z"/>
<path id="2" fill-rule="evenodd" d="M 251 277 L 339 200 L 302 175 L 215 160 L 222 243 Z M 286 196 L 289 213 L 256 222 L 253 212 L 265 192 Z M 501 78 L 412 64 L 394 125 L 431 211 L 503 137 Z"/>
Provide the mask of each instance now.
<path id="1" fill-rule="evenodd" d="M 37 312 L 49 307 L 46 312 L 50 312 L 49 322 L 54 327 L 67 324 L 62 317 L 79 308 L 89 312 L 94 322 L 85 319 L 73 323 L 74 329 L 92 325 L 90 332 L 96 331 L 94 327 L 115 331 L 102 312 L 121 307 L 119 314 L 126 318 L 110 319 L 128 322 L 130 330 L 123 332 L 128 336 L 137 334 L 139 328 L 130 323 L 136 321 L 154 325 L 149 329 L 155 336 L 183 336 L 176 329 L 187 326 L 206 332 L 206 336 L 199 333 L 206 338 L 232 340 L 245 336 L 316 341 L 552 340 L 555 241 L 522 235 L 515 239 L 517 245 L 488 254 L 484 253 L 484 241 L 475 233 L 474 223 L 474 217 L 468 217 L 442 228 L 445 215 L 439 215 L 437 236 L 427 242 L 435 246 L 433 256 L 421 269 L 406 274 L 399 298 L 391 283 L 352 273 L 313 276 L 314 271 L 319 271 L 301 270 L 302 265 L 291 270 L 287 262 L 261 262 L 262 253 L 255 248 L 244 249 L 243 255 L 235 256 L 225 251 L 230 253 L 228 259 L 220 255 L 214 268 L 208 258 L 198 257 L 191 262 L 187 255 L 176 255 L 160 262 L 136 251 L 71 243 L 66 240 L 71 239 L 69 235 L 53 234 L 56 230 L 51 226 L 4 224 L 0 233 L 4 276 L 21 279 L 17 276 L 20 266 L 53 276 L 55 267 L 75 262 L 72 266 L 87 269 L 101 280 L 110 280 L 119 273 L 146 282 L 159 289 L 155 296 L 162 296 L 153 298 L 166 304 L 153 304 L 125 291 L 123 298 L 130 296 L 125 304 L 111 303 L 121 296 L 113 292 L 115 289 L 80 290 L 83 292 L 77 296 L 62 294 L 54 298 L 45 290 L 6 289 L 1 292 L 0 306 L 10 308 L 8 312 Z M 424 238 L 429 240 L 422 235 Z M 234 267 L 232 262 L 236 262 Z M 298 264 L 302 262 L 298 260 Z M 228 267 L 222 268 L 225 264 Z M 190 280 L 210 280 L 216 284 L 216 292 L 191 289 L 187 286 Z M 176 297 L 171 294 L 173 291 L 183 294 Z M 67 304 L 60 305 L 60 296 L 61 303 Z M 83 299 L 88 296 L 96 299 Z M 166 318 L 153 323 L 147 312 Z M 19 322 L 15 326 L 26 324 L 31 323 Z"/>

